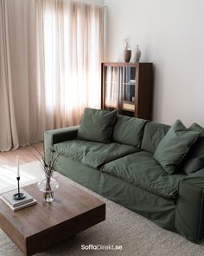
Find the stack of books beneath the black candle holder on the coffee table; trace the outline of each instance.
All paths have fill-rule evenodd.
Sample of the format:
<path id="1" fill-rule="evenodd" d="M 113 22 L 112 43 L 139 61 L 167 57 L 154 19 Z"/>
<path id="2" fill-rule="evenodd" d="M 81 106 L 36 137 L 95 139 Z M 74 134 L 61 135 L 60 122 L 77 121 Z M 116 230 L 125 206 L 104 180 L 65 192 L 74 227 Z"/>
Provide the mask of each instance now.
<path id="1" fill-rule="evenodd" d="M 21 193 L 25 194 L 25 198 L 22 200 L 15 200 L 13 195 L 16 194 L 16 189 L 10 190 L 9 192 L 1 194 L 0 198 L 3 200 L 8 207 L 10 207 L 14 212 L 21 210 L 25 207 L 30 207 L 36 204 L 36 200 L 26 191 L 21 189 Z"/>

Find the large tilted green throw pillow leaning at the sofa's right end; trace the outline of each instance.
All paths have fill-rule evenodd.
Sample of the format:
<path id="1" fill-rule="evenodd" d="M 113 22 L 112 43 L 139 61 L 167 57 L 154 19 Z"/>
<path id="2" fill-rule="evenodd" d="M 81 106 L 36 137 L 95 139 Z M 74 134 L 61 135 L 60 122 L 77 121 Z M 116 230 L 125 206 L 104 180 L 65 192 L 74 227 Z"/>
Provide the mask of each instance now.
<path id="1" fill-rule="evenodd" d="M 175 121 L 156 148 L 154 158 L 161 164 L 164 171 L 173 174 L 199 134 L 185 128 L 182 121 Z"/>

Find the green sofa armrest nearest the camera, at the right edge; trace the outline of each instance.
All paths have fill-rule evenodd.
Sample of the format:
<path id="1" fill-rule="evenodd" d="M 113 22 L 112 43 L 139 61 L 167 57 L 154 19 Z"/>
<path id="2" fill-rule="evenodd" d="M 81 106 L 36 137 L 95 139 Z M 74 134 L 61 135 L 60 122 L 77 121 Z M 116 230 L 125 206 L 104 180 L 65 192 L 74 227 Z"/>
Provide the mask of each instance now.
<path id="1" fill-rule="evenodd" d="M 175 230 L 194 243 L 204 238 L 204 168 L 180 181 Z"/>

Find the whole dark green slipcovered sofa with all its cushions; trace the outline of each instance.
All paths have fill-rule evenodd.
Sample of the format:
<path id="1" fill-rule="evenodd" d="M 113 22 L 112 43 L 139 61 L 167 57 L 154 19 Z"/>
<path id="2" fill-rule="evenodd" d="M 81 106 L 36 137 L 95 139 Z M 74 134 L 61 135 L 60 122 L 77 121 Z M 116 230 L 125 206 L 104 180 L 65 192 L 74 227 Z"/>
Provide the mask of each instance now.
<path id="1" fill-rule="evenodd" d="M 56 171 L 195 243 L 204 237 L 204 129 L 86 108 L 80 126 L 44 133 Z"/>

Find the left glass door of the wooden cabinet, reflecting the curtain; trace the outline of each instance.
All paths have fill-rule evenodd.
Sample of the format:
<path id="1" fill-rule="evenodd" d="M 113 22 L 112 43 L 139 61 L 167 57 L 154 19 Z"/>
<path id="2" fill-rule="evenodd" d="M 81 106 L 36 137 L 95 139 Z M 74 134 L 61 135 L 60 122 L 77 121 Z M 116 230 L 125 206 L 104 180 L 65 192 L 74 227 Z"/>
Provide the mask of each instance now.
<path id="1" fill-rule="evenodd" d="M 118 67 L 104 67 L 104 107 L 118 108 Z"/>

